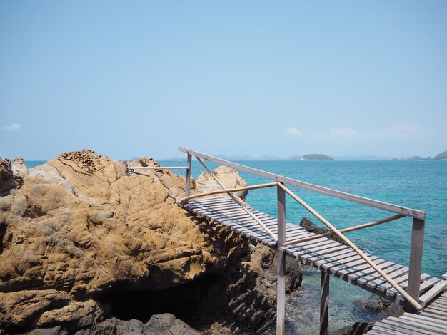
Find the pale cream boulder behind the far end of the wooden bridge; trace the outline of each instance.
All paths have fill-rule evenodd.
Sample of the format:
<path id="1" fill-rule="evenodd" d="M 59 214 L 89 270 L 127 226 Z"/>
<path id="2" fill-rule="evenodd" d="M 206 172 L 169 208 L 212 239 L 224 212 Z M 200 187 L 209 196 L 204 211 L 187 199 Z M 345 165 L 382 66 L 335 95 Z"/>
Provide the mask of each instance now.
<path id="1" fill-rule="evenodd" d="M 228 168 L 228 166 L 219 166 L 214 170 L 214 175 L 216 175 L 217 179 L 224 184 L 226 188 L 236 188 L 236 187 L 245 187 L 247 186 L 247 182 L 241 178 L 237 170 L 233 168 Z M 199 178 L 196 180 L 196 187 L 200 192 L 209 192 L 212 190 L 221 190 L 222 187 L 216 182 L 214 177 L 212 177 L 209 173 L 202 172 L 199 175 Z M 247 191 L 239 191 L 233 192 L 233 195 L 236 197 L 240 197 L 241 199 L 245 198 L 247 195 Z M 224 196 L 226 194 L 221 194 L 218 196 Z"/>

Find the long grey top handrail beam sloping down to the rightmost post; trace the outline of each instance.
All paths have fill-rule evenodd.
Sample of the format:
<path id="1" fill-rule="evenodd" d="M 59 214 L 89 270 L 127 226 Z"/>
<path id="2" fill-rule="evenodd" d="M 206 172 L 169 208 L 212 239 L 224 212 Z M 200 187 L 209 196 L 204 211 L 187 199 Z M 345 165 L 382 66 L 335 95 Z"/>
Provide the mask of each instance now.
<path id="1" fill-rule="evenodd" d="M 318 193 L 321 193 L 324 195 L 329 195 L 331 197 L 338 197 L 339 199 L 356 202 L 358 204 L 366 205 L 369 207 L 379 208 L 381 210 L 388 210 L 388 212 L 394 212 L 396 214 L 405 215 L 407 217 L 414 217 L 414 218 L 420 219 L 420 220 L 425 220 L 425 217 L 426 217 L 426 212 L 424 212 L 423 210 L 413 210 L 408 207 L 392 205 L 392 204 L 388 204 L 387 202 L 381 202 L 378 200 L 368 199 L 367 197 L 351 195 L 350 193 L 332 190 L 330 188 L 323 187 L 323 186 L 309 184 L 308 182 L 302 182 L 300 180 L 284 177 L 282 175 L 276 175 L 271 172 L 266 172 L 263 170 L 250 168 L 246 165 L 229 162 L 228 160 L 223 160 L 221 158 L 216 158 L 214 156 L 206 155 L 204 153 L 199 153 L 199 152 L 191 150 L 191 149 L 179 147 L 179 151 L 181 151 L 182 153 L 188 153 L 189 155 L 194 155 L 199 158 L 204 158 L 205 160 L 209 160 L 209 161 L 217 163 L 217 164 L 226 165 L 226 166 L 229 166 L 230 168 L 234 168 L 236 170 L 252 173 L 253 175 L 258 175 L 259 177 L 264 177 L 264 178 L 267 178 L 270 180 L 275 180 L 276 182 L 282 182 L 283 184 L 287 184 L 287 185 L 301 187 L 304 190 L 318 192 Z"/>

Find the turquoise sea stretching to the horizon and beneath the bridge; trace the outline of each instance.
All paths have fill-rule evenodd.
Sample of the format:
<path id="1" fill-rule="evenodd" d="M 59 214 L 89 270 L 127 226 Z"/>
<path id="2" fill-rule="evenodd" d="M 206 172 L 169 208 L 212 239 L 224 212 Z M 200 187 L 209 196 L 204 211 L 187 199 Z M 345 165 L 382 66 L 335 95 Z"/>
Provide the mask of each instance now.
<path id="1" fill-rule="evenodd" d="M 31 168 L 44 161 L 26 161 Z M 164 166 L 185 165 L 184 162 L 161 160 Z M 447 161 L 238 161 L 268 172 L 335 190 L 361 195 L 426 211 L 422 271 L 441 278 L 447 272 Z M 207 163 L 210 168 L 216 164 Z M 174 172 L 184 175 L 183 170 Z M 192 175 L 199 177 L 204 168 L 193 161 Z M 248 185 L 270 182 L 263 177 L 240 172 Z M 393 213 L 358 205 L 298 187 L 289 187 L 338 229 L 380 220 Z M 251 190 L 246 197 L 251 207 L 276 216 L 276 189 Z M 308 217 L 323 226 L 291 197 L 286 199 L 286 220 L 299 225 Z M 403 218 L 346 236 L 363 251 L 408 266 L 411 244 L 411 218 Z M 286 304 L 286 334 L 318 334 L 320 272 L 303 267 L 303 289 L 289 295 Z M 357 321 L 383 319 L 381 311 L 361 309 L 355 301 L 371 294 L 331 277 L 329 298 L 329 332 Z"/>

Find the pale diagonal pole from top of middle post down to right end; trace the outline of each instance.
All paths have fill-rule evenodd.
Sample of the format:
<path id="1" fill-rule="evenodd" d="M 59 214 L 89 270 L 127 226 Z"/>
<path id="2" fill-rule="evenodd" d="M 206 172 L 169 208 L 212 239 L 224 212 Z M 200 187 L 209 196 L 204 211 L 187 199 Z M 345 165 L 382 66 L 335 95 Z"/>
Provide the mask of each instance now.
<path id="1" fill-rule="evenodd" d="M 331 223 L 328 222 L 328 220 L 326 220 L 324 217 L 322 217 L 320 214 L 318 214 L 318 212 L 316 212 L 316 210 L 313 210 L 313 208 L 311 206 L 307 205 L 306 202 L 303 202 L 303 200 L 301 200 L 295 193 L 293 193 L 291 190 L 289 190 L 286 186 L 282 185 L 281 182 L 278 182 L 278 186 L 281 187 L 284 191 L 286 191 L 288 193 L 288 195 L 293 197 L 293 199 L 295 199 L 297 202 L 299 202 L 304 208 L 306 208 L 306 210 L 311 212 L 318 220 L 323 222 L 323 224 L 326 225 L 326 227 L 328 227 L 330 230 L 332 230 L 334 234 L 336 234 L 338 237 L 343 239 L 343 242 L 348 244 L 348 246 L 351 247 L 351 249 L 353 249 L 353 251 L 355 251 L 358 254 L 358 256 L 363 258 L 363 260 L 366 263 L 368 263 L 373 269 L 375 269 L 376 272 L 378 272 L 378 274 L 380 274 L 383 277 L 383 279 L 386 280 L 386 282 L 391 284 L 391 286 L 394 287 L 397 292 L 402 294 L 402 296 L 406 299 L 406 301 L 408 301 L 414 308 L 416 308 L 417 310 L 422 309 L 422 306 L 418 303 L 418 301 L 413 299 L 413 297 L 411 297 L 407 292 L 405 292 L 402 289 L 402 287 L 400 287 L 398 284 L 396 284 L 396 282 L 394 282 L 393 279 L 391 279 L 391 277 L 388 276 L 388 274 L 383 272 L 383 270 L 380 267 L 378 267 L 378 265 L 376 263 L 371 261 L 371 259 L 369 259 L 369 257 L 366 256 L 366 254 L 363 254 L 361 249 L 358 249 L 358 247 L 356 247 L 356 245 L 353 244 L 353 242 L 351 242 L 345 235 L 341 234 L 341 232 L 339 230 L 337 230 L 336 227 L 331 225 Z"/>

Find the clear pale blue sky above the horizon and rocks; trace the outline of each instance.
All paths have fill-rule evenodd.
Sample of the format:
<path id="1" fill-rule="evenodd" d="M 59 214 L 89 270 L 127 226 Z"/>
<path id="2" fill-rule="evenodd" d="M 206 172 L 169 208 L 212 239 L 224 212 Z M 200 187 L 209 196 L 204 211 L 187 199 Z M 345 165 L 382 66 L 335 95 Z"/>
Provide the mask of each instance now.
<path id="1" fill-rule="evenodd" d="M 0 156 L 436 155 L 447 1 L 0 1 Z"/>

